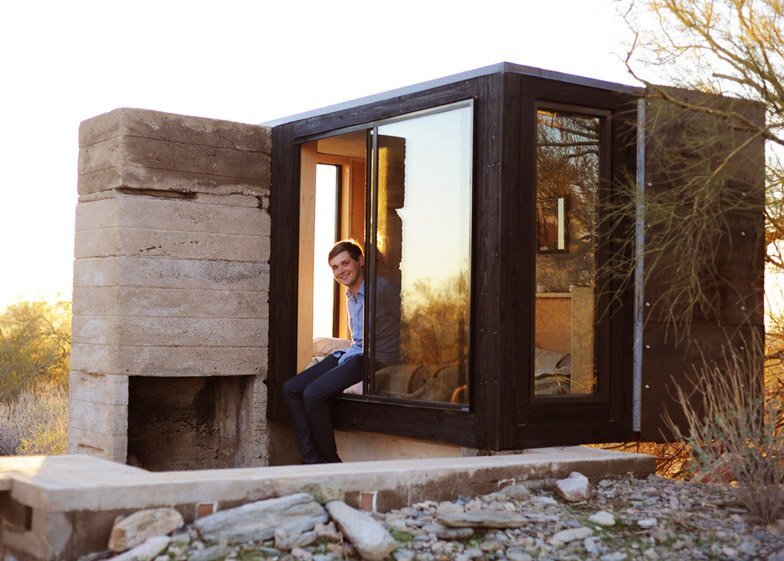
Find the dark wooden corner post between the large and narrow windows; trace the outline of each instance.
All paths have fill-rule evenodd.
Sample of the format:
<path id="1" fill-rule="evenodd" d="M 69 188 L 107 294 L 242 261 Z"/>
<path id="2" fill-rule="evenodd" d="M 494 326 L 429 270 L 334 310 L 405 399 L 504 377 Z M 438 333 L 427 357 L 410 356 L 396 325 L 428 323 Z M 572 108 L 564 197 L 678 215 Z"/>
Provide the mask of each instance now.
<path id="1" fill-rule="evenodd" d="M 516 232 L 527 226 L 517 204 L 519 91 L 517 75 L 492 76 L 482 82 L 479 148 L 476 156 L 472 338 L 475 360 L 474 408 L 482 446 L 510 448 L 515 372 L 524 347 L 517 338 L 521 274 Z"/>

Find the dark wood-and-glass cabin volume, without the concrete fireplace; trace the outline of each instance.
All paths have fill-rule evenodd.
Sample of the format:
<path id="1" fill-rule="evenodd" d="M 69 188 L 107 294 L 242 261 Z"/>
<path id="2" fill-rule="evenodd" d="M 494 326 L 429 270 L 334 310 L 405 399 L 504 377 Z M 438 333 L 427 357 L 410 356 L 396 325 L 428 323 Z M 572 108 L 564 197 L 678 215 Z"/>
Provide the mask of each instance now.
<path id="1" fill-rule="evenodd" d="M 694 122 L 649 126 L 645 94 L 503 63 L 270 123 L 270 419 L 285 420 L 288 377 L 346 346 L 326 254 L 354 238 L 366 372 L 337 400 L 338 428 L 480 450 L 660 440 L 671 377 L 724 352 L 728 329 L 762 333 L 763 147 L 730 180 L 756 208 L 715 239 L 732 248 L 724 316 L 695 316 L 679 345 L 646 313 L 668 279 L 645 282 L 640 249 L 657 240 L 642 194 L 671 187 L 655 166 Z M 640 203 L 618 214 L 630 186 Z M 619 260 L 636 270 L 611 271 Z M 375 337 L 390 321 L 393 364 Z"/>

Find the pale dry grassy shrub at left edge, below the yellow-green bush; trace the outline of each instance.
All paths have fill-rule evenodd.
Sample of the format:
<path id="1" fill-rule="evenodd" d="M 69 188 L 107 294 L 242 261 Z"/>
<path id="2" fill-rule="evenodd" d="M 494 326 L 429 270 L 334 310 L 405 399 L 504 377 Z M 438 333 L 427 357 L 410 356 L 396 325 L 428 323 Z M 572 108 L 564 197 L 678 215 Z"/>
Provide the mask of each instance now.
<path id="1" fill-rule="evenodd" d="M 65 454 L 68 390 L 38 384 L 17 398 L 0 401 L 0 455 Z"/>

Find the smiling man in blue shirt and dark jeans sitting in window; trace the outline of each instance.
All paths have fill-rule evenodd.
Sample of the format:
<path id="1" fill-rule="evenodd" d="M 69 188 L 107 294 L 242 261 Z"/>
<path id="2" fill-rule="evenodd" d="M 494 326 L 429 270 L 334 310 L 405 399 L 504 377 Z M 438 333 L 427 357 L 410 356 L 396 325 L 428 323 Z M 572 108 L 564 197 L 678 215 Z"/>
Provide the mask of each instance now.
<path id="1" fill-rule="evenodd" d="M 327 356 L 283 384 L 286 401 L 294 431 L 297 448 L 303 464 L 339 462 L 335 434 L 332 430 L 330 399 L 344 389 L 362 381 L 364 377 L 364 353 L 362 348 L 365 326 L 365 256 L 354 240 L 336 243 L 329 252 L 329 266 L 335 280 L 346 287 L 349 328 L 352 344 Z M 387 283 L 388 284 L 388 283 Z M 379 286 L 380 293 L 387 292 Z M 390 298 L 379 298 L 379 307 L 390 308 L 392 316 L 400 314 L 399 291 L 397 310 Z M 381 363 L 396 361 L 399 348 L 399 322 L 382 313 L 377 321 L 376 358 Z"/>

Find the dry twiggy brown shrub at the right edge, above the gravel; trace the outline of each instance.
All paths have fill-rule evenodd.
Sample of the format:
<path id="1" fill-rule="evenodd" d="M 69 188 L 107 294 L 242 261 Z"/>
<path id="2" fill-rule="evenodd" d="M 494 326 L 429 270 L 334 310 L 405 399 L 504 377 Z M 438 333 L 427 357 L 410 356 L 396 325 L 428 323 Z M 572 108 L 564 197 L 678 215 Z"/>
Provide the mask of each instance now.
<path id="1" fill-rule="evenodd" d="M 784 516 L 782 401 L 775 391 L 750 386 L 758 357 L 732 353 L 696 370 L 693 387 L 676 390 L 687 429 L 670 419 L 668 426 L 689 445 L 692 470 L 720 471 L 738 502 L 771 523 Z"/>

